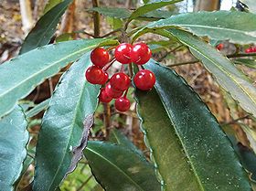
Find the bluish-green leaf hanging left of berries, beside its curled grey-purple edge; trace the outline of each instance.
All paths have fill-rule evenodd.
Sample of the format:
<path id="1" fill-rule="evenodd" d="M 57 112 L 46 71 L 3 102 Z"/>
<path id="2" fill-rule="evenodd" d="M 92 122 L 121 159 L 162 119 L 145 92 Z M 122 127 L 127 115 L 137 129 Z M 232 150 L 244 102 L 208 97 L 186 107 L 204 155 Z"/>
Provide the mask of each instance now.
<path id="1" fill-rule="evenodd" d="M 86 116 L 96 110 L 99 86 L 85 80 L 90 53 L 80 58 L 61 77 L 39 132 L 33 189 L 54 190 L 65 176 L 72 149 L 80 145 Z"/>

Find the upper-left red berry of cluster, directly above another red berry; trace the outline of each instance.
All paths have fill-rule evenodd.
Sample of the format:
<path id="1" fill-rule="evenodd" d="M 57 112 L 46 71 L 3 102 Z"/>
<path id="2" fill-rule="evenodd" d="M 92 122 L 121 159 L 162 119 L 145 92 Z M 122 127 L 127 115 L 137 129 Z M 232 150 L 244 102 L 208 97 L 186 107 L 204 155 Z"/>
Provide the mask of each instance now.
<path id="1" fill-rule="evenodd" d="M 110 59 L 110 55 L 104 48 L 95 48 L 91 52 L 91 62 L 97 67 L 104 67 Z"/>

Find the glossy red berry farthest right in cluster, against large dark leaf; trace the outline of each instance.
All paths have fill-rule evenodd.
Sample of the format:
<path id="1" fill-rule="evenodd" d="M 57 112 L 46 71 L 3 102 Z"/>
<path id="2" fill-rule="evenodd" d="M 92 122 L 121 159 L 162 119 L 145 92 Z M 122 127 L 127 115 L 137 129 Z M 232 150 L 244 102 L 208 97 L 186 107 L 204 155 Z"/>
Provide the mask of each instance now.
<path id="1" fill-rule="evenodd" d="M 140 70 L 134 76 L 134 85 L 140 90 L 151 90 L 155 85 L 155 74 L 148 70 Z"/>

